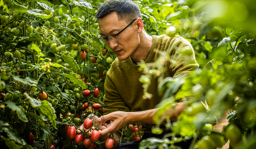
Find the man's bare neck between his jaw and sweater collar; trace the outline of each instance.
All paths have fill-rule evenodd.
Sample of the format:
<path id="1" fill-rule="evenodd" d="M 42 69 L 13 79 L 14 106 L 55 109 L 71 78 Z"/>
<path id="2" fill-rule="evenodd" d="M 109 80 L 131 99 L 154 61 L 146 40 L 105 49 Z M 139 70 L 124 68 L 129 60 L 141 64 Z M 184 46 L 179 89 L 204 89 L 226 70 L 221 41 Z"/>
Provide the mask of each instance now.
<path id="1" fill-rule="evenodd" d="M 145 61 L 150 53 L 152 43 L 153 43 L 153 38 L 149 36 L 147 33 L 145 33 L 145 31 L 143 31 L 143 35 L 140 38 L 139 47 L 131 55 L 132 61 L 134 63 L 141 62 L 141 60 Z"/>

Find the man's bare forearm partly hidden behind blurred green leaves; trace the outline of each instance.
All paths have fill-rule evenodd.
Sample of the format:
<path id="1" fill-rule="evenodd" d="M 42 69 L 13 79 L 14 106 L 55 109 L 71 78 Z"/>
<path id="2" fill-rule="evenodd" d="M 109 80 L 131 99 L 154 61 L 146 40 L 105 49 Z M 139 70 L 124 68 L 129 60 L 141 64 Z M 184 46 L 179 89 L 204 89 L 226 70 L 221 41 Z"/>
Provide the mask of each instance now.
<path id="1" fill-rule="evenodd" d="M 165 114 L 170 116 L 171 121 L 176 120 L 177 116 L 179 116 L 179 114 L 183 112 L 185 107 L 186 107 L 186 104 L 183 102 L 175 103 L 172 105 L 172 108 L 170 108 L 165 112 Z M 133 122 L 143 122 L 143 123 L 154 124 L 153 116 L 154 114 L 156 114 L 158 109 L 159 108 L 139 111 L 139 112 L 129 112 L 128 124 Z"/>

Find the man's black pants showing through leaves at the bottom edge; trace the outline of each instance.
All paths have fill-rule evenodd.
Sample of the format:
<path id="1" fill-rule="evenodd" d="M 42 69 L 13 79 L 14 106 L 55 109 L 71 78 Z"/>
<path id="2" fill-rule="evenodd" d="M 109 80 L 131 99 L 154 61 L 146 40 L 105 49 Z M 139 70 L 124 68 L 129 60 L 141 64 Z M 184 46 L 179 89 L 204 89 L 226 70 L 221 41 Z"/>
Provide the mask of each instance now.
<path id="1" fill-rule="evenodd" d="M 144 133 L 144 135 L 142 136 L 142 138 L 140 140 L 134 141 L 134 142 L 121 143 L 121 145 L 118 147 L 118 149 L 139 149 L 139 143 L 142 140 L 147 139 L 147 138 L 152 138 L 152 137 L 162 139 L 164 137 L 164 135 L 168 134 L 168 133 L 171 133 L 171 130 L 165 130 L 164 129 L 163 133 L 160 134 L 160 135 Z M 179 136 L 177 136 L 177 137 L 179 137 Z M 168 138 L 168 139 L 171 140 L 171 137 Z M 192 139 L 189 139 L 186 142 L 182 141 L 182 142 L 175 143 L 174 145 L 181 147 L 181 149 L 188 149 L 191 142 L 192 142 Z"/>

